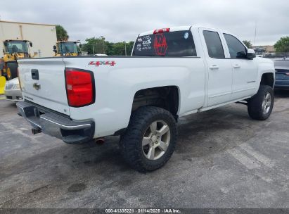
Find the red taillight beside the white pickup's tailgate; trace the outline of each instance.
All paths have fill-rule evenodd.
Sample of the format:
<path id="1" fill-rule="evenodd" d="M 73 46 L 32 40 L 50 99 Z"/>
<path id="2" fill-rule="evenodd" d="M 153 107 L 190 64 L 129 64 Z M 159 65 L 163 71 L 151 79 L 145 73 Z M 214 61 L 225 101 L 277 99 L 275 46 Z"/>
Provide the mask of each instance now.
<path id="1" fill-rule="evenodd" d="M 94 103 L 94 76 L 86 70 L 67 68 L 65 70 L 68 104 L 72 107 Z"/>

